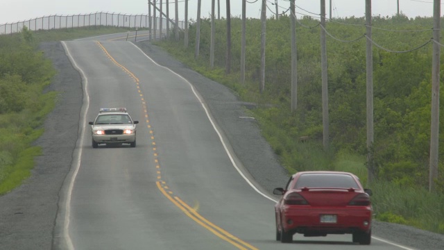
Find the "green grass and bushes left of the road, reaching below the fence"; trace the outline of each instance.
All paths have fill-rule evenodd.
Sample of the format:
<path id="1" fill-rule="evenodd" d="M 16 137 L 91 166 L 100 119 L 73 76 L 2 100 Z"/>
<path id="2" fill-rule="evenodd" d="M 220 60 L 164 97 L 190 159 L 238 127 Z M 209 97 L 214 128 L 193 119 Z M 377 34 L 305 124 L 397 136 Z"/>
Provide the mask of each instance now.
<path id="1" fill-rule="evenodd" d="M 34 157 L 42 153 L 33 142 L 57 105 L 57 92 L 45 91 L 56 74 L 38 51 L 40 42 L 71 40 L 126 32 L 128 28 L 87 27 L 60 31 L 0 35 L 0 194 L 10 192 L 31 175 Z"/>

